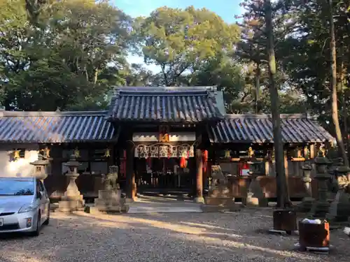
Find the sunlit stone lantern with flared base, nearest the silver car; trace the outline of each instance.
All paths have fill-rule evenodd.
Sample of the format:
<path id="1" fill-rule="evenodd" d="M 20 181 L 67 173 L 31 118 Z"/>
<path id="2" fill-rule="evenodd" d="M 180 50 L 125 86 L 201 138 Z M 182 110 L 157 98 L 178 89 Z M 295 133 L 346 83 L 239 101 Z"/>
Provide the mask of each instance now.
<path id="1" fill-rule="evenodd" d="M 69 178 L 69 184 L 62 196 L 62 201 L 58 203 L 58 210 L 62 212 L 76 211 L 79 208 L 83 208 L 84 201 L 83 195 L 80 194 L 78 187 L 76 186 L 76 178 L 79 176 L 78 166 L 79 162 L 76 161 L 74 155 L 71 156 L 68 162 L 64 163 L 64 166 L 69 168 L 66 177 Z"/>

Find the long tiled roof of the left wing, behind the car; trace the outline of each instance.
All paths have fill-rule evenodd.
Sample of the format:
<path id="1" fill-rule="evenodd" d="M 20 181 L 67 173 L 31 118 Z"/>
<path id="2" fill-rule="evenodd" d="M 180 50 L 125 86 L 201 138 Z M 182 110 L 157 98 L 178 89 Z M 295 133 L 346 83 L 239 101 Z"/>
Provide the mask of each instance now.
<path id="1" fill-rule="evenodd" d="M 118 138 L 106 111 L 0 111 L 0 143 L 104 142 Z"/>

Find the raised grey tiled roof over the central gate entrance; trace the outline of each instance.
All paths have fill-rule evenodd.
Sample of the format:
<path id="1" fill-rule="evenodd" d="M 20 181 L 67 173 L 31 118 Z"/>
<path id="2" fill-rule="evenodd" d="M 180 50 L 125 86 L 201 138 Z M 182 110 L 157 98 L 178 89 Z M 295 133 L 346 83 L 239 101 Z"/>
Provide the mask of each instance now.
<path id="1" fill-rule="evenodd" d="M 107 117 L 114 121 L 201 122 L 222 119 L 216 87 L 120 87 Z"/>

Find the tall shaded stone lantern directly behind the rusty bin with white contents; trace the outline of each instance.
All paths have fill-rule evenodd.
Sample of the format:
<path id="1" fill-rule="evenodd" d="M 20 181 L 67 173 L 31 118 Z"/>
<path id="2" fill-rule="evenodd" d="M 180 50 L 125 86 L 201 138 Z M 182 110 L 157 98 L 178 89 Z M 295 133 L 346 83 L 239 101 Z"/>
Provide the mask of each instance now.
<path id="1" fill-rule="evenodd" d="M 318 182 L 318 198 L 312 205 L 311 215 L 316 218 L 324 219 L 330 206 L 327 199 L 327 182 L 330 179 L 330 175 L 327 172 L 327 166 L 330 161 L 328 158 L 324 157 L 324 154 L 321 150 L 318 151 L 318 155 L 314 161 L 316 165 L 316 176 L 314 179 L 316 179 Z"/>

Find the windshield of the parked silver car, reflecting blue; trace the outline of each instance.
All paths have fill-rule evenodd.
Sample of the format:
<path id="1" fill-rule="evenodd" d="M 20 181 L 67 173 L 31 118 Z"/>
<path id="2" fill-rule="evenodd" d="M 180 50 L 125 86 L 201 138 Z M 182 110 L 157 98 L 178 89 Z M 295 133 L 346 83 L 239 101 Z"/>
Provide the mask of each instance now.
<path id="1" fill-rule="evenodd" d="M 0 196 L 31 196 L 34 190 L 33 180 L 0 178 Z"/>

